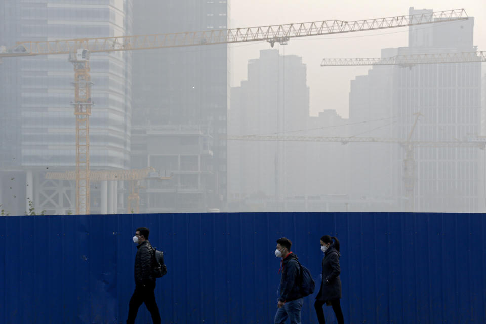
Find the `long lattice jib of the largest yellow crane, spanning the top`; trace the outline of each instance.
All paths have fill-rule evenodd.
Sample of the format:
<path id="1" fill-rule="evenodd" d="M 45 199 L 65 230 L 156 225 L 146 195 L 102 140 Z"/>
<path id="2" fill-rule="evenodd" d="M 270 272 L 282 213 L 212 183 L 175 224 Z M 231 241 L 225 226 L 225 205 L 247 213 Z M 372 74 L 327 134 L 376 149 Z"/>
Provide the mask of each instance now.
<path id="1" fill-rule="evenodd" d="M 306 23 L 169 34 L 19 42 L 14 48 L 7 49 L 4 53 L 0 52 L 0 58 L 22 55 L 69 54 L 78 49 L 86 49 L 95 53 L 256 41 L 267 41 L 273 45 L 277 42 L 286 42 L 289 38 L 294 37 L 379 30 L 466 19 L 468 19 L 468 16 L 464 9 L 455 9 L 356 21 L 323 20 Z"/>

